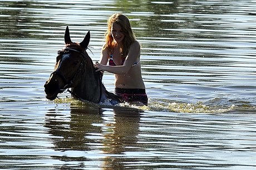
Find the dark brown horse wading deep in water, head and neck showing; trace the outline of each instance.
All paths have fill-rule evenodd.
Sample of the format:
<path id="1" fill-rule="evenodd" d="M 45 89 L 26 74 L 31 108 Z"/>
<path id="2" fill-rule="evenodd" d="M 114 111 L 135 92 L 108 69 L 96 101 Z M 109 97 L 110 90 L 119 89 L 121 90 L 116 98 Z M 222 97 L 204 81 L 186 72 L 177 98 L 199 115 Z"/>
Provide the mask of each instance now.
<path id="1" fill-rule="evenodd" d="M 89 42 L 90 31 L 82 42 L 74 43 L 68 27 L 66 28 L 66 45 L 58 51 L 54 71 L 45 83 L 47 99 L 53 100 L 58 93 L 67 90 L 81 101 L 99 103 L 111 99 L 112 104 L 119 103 L 115 94 L 108 92 L 102 84 L 102 74 L 95 71 L 92 59 L 86 52 Z"/>

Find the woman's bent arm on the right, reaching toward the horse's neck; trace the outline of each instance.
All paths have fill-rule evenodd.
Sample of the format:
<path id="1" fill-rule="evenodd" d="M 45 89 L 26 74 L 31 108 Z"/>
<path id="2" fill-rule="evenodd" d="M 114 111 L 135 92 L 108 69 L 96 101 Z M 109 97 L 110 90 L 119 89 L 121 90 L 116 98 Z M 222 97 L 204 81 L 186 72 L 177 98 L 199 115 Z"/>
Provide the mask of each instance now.
<path id="1" fill-rule="evenodd" d="M 103 55 L 104 56 L 104 55 Z M 122 66 L 106 66 L 104 57 L 100 61 L 100 63 L 95 64 L 96 71 L 107 71 L 114 74 L 126 74 L 131 69 L 132 65 L 137 62 L 137 58 L 140 56 L 140 44 L 135 41 L 131 44 L 129 48 L 129 52 L 125 59 L 125 62 Z M 108 59 L 108 58 L 107 58 Z"/>

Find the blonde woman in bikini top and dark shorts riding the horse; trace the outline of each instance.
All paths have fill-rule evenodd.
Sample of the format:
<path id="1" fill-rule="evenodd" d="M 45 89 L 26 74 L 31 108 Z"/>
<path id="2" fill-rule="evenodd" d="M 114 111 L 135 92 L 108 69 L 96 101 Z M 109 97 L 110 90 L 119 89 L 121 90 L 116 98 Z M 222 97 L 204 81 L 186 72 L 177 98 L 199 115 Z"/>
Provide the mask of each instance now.
<path id="1" fill-rule="evenodd" d="M 129 19 L 115 13 L 107 21 L 106 43 L 101 49 L 96 71 L 115 74 L 115 94 L 121 102 L 147 106 L 145 84 L 141 77 L 140 44 Z M 107 62 L 109 61 L 109 65 Z"/>

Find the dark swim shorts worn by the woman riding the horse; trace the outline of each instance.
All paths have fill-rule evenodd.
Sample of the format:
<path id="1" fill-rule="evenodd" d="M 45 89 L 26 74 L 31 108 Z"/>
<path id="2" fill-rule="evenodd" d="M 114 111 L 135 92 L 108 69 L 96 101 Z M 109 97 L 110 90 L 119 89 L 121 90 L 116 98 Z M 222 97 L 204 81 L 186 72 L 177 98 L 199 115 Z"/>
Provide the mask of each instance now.
<path id="1" fill-rule="evenodd" d="M 116 87 L 115 94 L 121 102 L 141 102 L 145 106 L 147 106 L 147 94 L 145 89 Z"/>

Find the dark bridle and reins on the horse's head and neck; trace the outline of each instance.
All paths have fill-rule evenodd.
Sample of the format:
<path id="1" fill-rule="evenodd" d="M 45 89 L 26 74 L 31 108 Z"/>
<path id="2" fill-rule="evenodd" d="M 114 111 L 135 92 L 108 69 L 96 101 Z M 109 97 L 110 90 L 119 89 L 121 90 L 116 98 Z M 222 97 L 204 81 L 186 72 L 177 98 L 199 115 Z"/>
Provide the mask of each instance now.
<path id="1" fill-rule="evenodd" d="M 82 99 L 81 97 L 79 97 L 76 93 L 70 91 L 70 89 L 68 89 L 68 88 L 71 87 L 71 85 L 73 84 L 73 82 L 76 80 L 78 74 L 81 72 L 82 67 L 83 67 L 83 64 L 85 63 L 85 58 L 86 58 L 86 56 L 85 56 L 84 53 L 82 53 L 82 52 L 80 52 L 80 51 L 78 51 L 78 50 L 76 50 L 76 49 L 73 49 L 73 48 L 68 48 L 68 47 L 66 47 L 66 48 L 63 48 L 62 51 L 65 51 L 66 49 L 67 49 L 67 50 L 70 50 L 70 51 L 75 51 L 75 52 L 81 54 L 81 56 L 82 56 L 82 61 L 81 61 L 81 63 L 80 63 L 80 66 L 78 67 L 76 73 L 74 74 L 73 78 L 72 78 L 70 81 L 68 81 L 68 80 L 65 78 L 65 76 L 63 76 L 63 74 L 62 74 L 61 72 L 59 72 L 59 71 L 53 71 L 53 72 L 51 73 L 50 77 L 51 77 L 52 75 L 57 75 L 57 76 L 59 76 L 59 77 L 62 79 L 63 82 L 65 82 L 66 85 L 63 87 L 63 89 L 60 89 L 60 93 L 63 93 L 63 92 L 70 92 L 73 96 L 75 96 L 76 98 L 78 98 L 80 101 L 85 101 L 84 99 Z M 101 78 L 99 78 L 99 84 L 100 84 L 100 98 L 99 98 L 98 103 L 100 103 L 100 101 L 101 101 L 101 94 L 102 94 Z"/>

